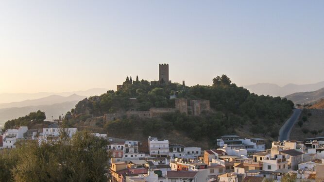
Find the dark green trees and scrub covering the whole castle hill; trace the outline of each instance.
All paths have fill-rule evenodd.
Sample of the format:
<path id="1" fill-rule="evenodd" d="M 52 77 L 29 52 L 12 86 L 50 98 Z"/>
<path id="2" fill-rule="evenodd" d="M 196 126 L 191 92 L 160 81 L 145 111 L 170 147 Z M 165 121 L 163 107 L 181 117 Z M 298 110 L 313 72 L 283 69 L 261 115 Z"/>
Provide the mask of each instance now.
<path id="1" fill-rule="evenodd" d="M 64 122 L 68 126 L 102 128 L 110 136 L 137 140 L 147 140 L 149 135 L 168 137 L 168 133 L 183 133 L 193 142 L 206 140 L 211 146 L 217 137 L 241 129 L 245 129 L 247 136 L 276 138 L 294 105 L 285 98 L 251 94 L 247 89 L 231 83 L 226 75 L 214 78 L 211 86 L 150 83 L 139 81 L 138 78 L 132 81 L 129 77 L 122 85 L 119 91 L 109 90 L 101 96 L 80 101 L 67 113 Z M 129 110 L 148 111 L 152 107 L 174 108 L 171 95 L 176 98 L 210 100 L 211 112 L 201 116 L 176 112 L 146 119 L 125 116 L 114 121 L 105 121 L 101 117 L 106 113 Z"/>

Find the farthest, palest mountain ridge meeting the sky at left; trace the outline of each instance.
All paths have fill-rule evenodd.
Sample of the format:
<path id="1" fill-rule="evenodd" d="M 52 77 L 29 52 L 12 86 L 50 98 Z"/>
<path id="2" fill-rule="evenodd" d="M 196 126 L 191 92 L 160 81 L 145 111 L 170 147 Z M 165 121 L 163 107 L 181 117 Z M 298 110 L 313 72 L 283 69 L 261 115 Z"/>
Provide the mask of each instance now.
<path id="1" fill-rule="evenodd" d="M 0 103 L 20 102 L 27 99 L 40 99 L 44 97 L 49 97 L 51 95 L 67 97 L 72 94 L 76 94 L 79 96 L 90 97 L 90 96 L 101 95 L 106 92 L 107 89 L 105 88 L 92 88 L 85 91 L 75 91 L 75 92 L 0 93 Z"/>

